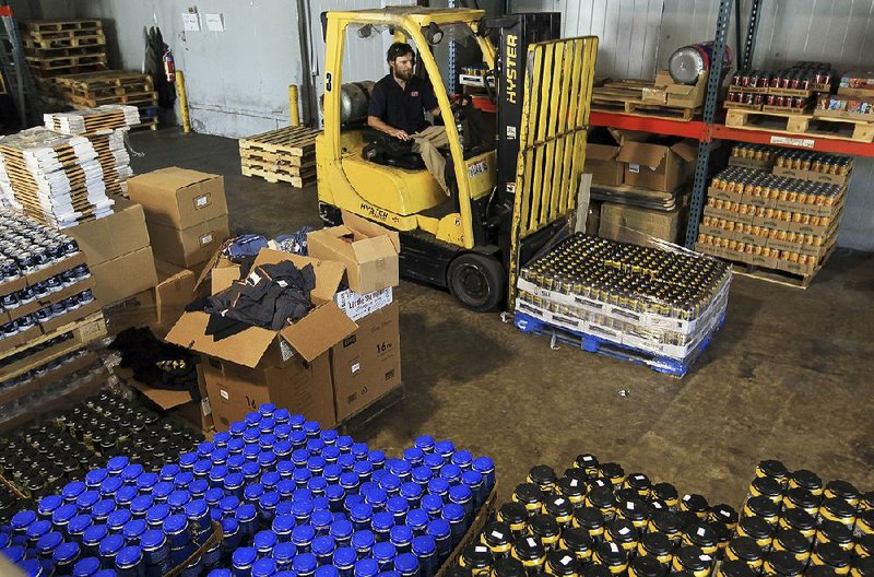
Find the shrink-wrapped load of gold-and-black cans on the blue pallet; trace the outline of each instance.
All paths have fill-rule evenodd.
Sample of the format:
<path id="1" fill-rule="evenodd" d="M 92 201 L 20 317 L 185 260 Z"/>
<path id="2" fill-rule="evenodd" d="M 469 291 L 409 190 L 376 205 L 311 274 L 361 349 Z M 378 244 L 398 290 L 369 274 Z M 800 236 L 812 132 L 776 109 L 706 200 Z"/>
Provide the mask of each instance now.
<path id="1" fill-rule="evenodd" d="M 522 269 L 516 309 L 682 360 L 721 325 L 730 283 L 728 267 L 701 255 L 577 234 Z"/>

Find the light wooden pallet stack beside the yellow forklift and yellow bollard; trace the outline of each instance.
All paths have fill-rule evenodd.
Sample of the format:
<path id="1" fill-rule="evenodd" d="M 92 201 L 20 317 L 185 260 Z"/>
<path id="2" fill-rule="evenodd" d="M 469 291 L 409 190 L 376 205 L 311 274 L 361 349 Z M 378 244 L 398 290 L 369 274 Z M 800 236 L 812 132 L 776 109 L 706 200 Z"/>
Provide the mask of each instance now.
<path id="1" fill-rule="evenodd" d="M 304 188 L 316 179 L 316 137 L 320 133 L 308 127 L 285 127 L 240 139 L 243 175 Z"/>

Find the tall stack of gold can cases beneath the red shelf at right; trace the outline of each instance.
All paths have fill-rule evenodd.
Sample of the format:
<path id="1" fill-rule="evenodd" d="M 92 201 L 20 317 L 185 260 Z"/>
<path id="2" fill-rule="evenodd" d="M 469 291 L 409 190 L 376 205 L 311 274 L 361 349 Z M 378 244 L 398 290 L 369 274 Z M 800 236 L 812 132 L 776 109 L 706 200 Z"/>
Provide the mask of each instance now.
<path id="1" fill-rule="evenodd" d="M 730 164 L 735 166 L 711 181 L 696 248 L 794 274 L 815 273 L 837 239 L 852 161 L 737 145 Z"/>

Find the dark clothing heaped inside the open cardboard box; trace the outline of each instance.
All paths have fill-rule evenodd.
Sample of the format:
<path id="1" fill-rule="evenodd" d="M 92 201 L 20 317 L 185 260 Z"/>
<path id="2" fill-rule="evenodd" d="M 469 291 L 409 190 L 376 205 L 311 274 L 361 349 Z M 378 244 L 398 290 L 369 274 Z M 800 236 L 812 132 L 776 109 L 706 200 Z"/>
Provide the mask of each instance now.
<path id="1" fill-rule="evenodd" d="M 303 269 L 287 260 L 259 264 L 226 291 L 196 301 L 187 310 L 209 313 L 206 334 L 220 341 L 249 327 L 280 330 L 290 320 L 299 320 L 312 308 L 315 287 L 312 264 Z"/>

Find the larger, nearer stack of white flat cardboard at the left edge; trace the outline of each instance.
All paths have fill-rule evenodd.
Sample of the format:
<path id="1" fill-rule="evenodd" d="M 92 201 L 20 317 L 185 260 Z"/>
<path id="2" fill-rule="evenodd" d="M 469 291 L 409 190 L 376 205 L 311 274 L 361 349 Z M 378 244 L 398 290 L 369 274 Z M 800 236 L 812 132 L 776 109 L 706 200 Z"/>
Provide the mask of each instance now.
<path id="1" fill-rule="evenodd" d="M 0 192 L 16 209 L 60 228 L 108 214 L 114 203 L 91 141 L 44 127 L 0 138 Z"/>

